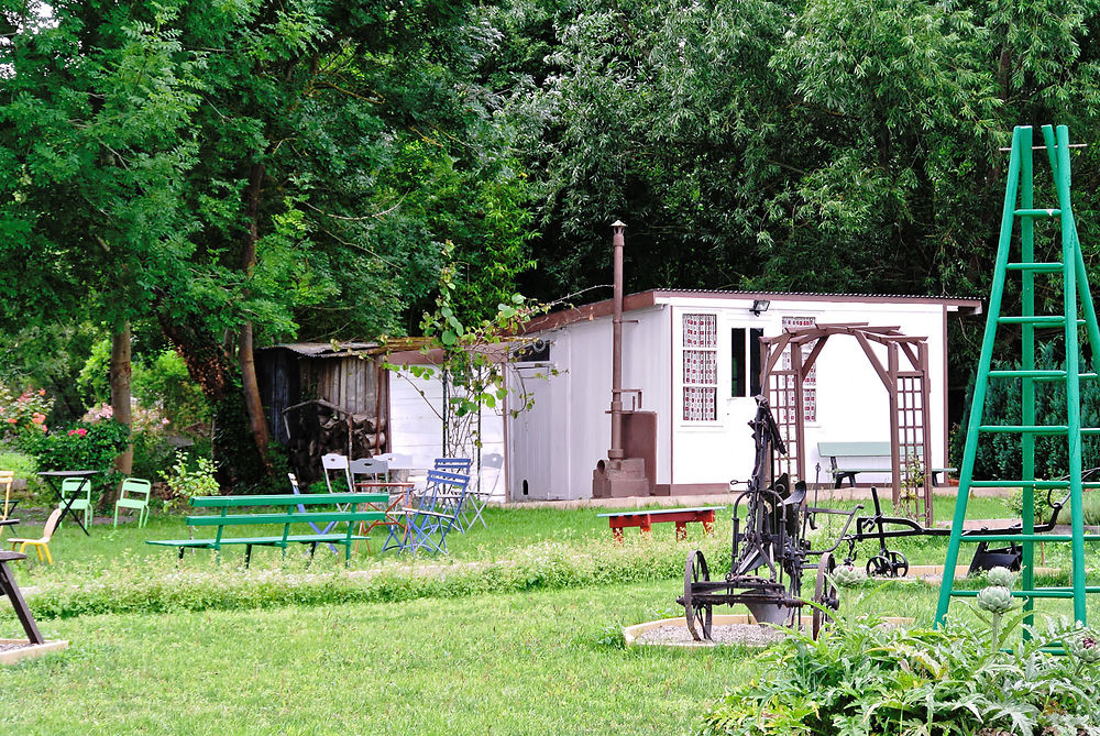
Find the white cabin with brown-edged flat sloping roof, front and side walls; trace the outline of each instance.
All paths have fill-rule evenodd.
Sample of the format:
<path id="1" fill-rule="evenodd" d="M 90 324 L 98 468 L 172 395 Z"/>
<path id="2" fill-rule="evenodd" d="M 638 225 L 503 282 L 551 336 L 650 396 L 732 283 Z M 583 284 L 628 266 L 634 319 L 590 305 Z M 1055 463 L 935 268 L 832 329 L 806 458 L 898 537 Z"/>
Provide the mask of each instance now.
<path id="1" fill-rule="evenodd" d="M 754 304 L 767 300 L 766 309 Z M 509 372 L 510 388 L 534 395 L 535 406 L 504 418 L 506 484 L 512 501 L 592 497 L 592 471 L 607 457 L 610 440 L 612 303 L 556 312 L 534 322 L 541 350 Z M 977 299 L 887 295 L 779 294 L 649 290 L 626 298 L 623 327 L 623 387 L 626 408 L 656 414 L 657 495 L 722 493 L 729 481 L 752 470 L 748 421 L 759 392 L 760 336 L 785 327 L 864 322 L 895 326 L 927 339 L 932 402 L 931 466 L 947 465 L 947 320 L 976 315 Z M 716 331 L 707 340 L 706 369 L 688 331 Z M 686 367 L 685 367 L 686 364 Z M 712 367 L 713 366 L 713 367 Z M 716 369 L 716 370 L 715 370 Z M 394 384 L 391 383 L 393 392 Z M 396 395 L 392 393 L 396 399 Z M 637 398 L 632 398 L 637 396 Z M 889 441 L 887 391 L 859 344 L 835 338 L 804 383 L 807 480 L 827 483 L 828 460 L 820 441 Z M 397 407 L 394 406 L 394 409 Z M 397 419 L 395 410 L 394 419 Z M 395 442 L 398 432 L 394 432 Z M 628 454 L 630 454 L 628 452 Z M 867 474 L 860 481 L 882 482 Z"/>

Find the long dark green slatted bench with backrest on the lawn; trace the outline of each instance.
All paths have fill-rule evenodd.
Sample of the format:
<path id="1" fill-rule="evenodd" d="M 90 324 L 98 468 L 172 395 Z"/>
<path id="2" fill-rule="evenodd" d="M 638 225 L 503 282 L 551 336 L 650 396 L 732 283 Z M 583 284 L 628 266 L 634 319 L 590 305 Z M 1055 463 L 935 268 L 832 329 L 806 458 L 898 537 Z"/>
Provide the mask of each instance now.
<path id="1" fill-rule="evenodd" d="M 389 494 L 386 493 L 317 493 L 300 496 L 295 495 L 272 495 L 272 496 L 197 496 L 191 498 L 191 506 L 196 508 L 220 508 L 221 513 L 208 516 L 188 516 L 187 526 L 190 527 L 217 527 L 217 532 L 212 539 L 151 539 L 147 545 L 160 545 L 162 547 L 178 547 L 179 558 L 183 559 L 184 550 L 187 549 L 212 549 L 220 552 L 222 547 L 228 545 L 244 545 L 244 567 L 248 568 L 252 561 L 253 547 L 278 547 L 286 554 L 286 548 L 292 543 L 310 545 L 309 554 L 312 557 L 317 551 L 317 546 L 322 543 L 343 545 L 344 563 L 351 561 L 352 542 L 365 540 L 362 535 L 352 534 L 356 521 L 378 521 L 385 519 L 385 506 L 389 503 Z M 340 510 L 342 505 L 346 510 Z M 360 504 L 370 506 L 366 510 L 359 510 Z M 298 506 L 332 506 L 332 510 L 297 510 Z M 250 514 L 230 514 L 229 510 L 256 507 L 276 507 L 286 510 L 270 513 L 257 512 Z M 292 524 L 340 524 L 346 523 L 345 531 L 336 532 L 314 532 L 314 534 L 290 534 Z M 255 525 L 282 525 L 283 534 L 263 537 L 227 537 L 227 527 L 255 526 Z"/>

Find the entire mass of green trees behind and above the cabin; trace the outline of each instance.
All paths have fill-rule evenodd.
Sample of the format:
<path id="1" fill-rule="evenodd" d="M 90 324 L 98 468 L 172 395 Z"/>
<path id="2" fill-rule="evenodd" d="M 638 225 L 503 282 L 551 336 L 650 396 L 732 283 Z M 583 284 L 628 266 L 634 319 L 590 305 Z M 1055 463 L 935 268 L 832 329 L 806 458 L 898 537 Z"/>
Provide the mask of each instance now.
<path id="1" fill-rule="evenodd" d="M 999 147 L 1100 110 L 1094 0 L 51 7 L 0 2 L 0 371 L 66 417 L 127 321 L 217 404 L 245 325 L 415 333 L 443 270 L 479 323 L 606 284 L 615 219 L 632 289 L 983 296 Z M 980 327 L 952 329 L 965 385 Z"/>

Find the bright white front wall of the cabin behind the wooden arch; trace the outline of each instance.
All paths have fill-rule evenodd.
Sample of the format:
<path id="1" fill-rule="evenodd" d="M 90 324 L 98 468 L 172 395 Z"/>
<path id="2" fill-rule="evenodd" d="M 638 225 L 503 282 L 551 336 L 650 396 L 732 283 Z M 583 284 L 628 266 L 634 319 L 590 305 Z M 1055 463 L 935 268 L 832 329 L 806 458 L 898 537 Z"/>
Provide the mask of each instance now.
<path id="1" fill-rule="evenodd" d="M 905 334 L 926 337 L 931 403 L 927 420 L 932 429 L 932 462 L 944 463 L 944 307 L 937 304 L 826 304 L 772 299 L 759 317 L 749 311 L 751 300 L 676 299 L 672 307 L 672 482 L 680 484 L 726 483 L 745 480 L 752 470 L 754 449 L 747 422 L 756 404 L 751 398 L 730 394 L 730 331 L 733 328 L 762 328 L 766 336 L 779 334 L 782 317 L 815 317 L 818 323 L 867 322 L 870 326 L 897 326 Z M 684 314 L 718 316 L 719 398 L 715 422 L 683 420 L 682 323 Z M 886 365 L 886 350 L 877 348 Z M 902 359 L 903 369 L 905 359 Z M 817 455 L 820 441 L 889 441 L 890 413 L 886 387 L 871 367 L 859 343 L 848 337 L 833 337 L 817 360 L 817 421 L 807 422 L 806 474 L 815 477 L 815 464 L 822 463 L 822 482 L 827 482 L 828 459 Z M 859 466 L 870 466 L 866 459 Z M 884 463 L 888 466 L 889 463 Z M 889 482 L 889 473 L 867 473 L 859 481 Z"/>

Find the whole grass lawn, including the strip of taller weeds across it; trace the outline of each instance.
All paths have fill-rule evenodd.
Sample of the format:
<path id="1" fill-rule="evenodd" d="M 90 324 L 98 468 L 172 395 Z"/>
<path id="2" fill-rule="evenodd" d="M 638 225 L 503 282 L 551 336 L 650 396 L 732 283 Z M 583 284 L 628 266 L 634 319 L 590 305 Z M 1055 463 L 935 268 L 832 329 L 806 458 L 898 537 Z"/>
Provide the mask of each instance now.
<path id="1" fill-rule="evenodd" d="M 937 512 L 949 516 L 952 503 L 942 498 Z M 972 512 L 1008 509 L 976 499 Z M 451 557 L 415 564 L 380 558 L 378 536 L 350 573 L 320 551 L 308 567 L 274 550 L 258 550 L 251 571 L 240 569 L 243 550 L 221 563 L 200 551 L 177 565 L 173 550 L 144 540 L 186 536 L 179 517 L 154 516 L 143 530 L 97 525 L 91 537 L 66 525 L 51 545 L 57 563 L 21 565 L 20 579 L 42 596 L 54 591 L 40 626 L 72 646 L 0 671 L 0 723 L 30 734 L 692 733 L 711 702 L 754 674 L 755 652 L 624 649 L 618 631 L 682 615 L 683 559 L 701 547 L 724 571 L 728 516 L 713 537 L 693 525 L 680 542 L 658 525 L 651 539 L 628 534 L 620 546 L 597 513 L 492 508 L 488 528 L 449 540 Z M 866 545 L 860 561 L 873 551 Z M 899 546 L 914 563 L 937 563 L 946 540 Z M 1048 560 L 1062 556 L 1059 547 Z M 426 568 L 432 576 L 417 590 L 402 586 Z M 371 589 L 376 579 L 389 582 Z M 280 597 L 310 585 L 312 596 Z M 95 605 L 66 613 L 77 598 L 56 591 L 74 586 L 92 589 Z M 846 592 L 843 605 L 928 625 L 936 594 L 922 583 L 871 584 Z M 18 631 L 0 609 L 0 636 Z"/>

